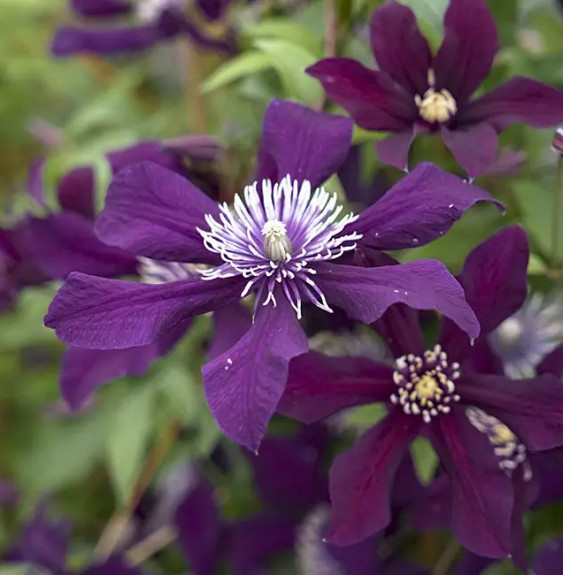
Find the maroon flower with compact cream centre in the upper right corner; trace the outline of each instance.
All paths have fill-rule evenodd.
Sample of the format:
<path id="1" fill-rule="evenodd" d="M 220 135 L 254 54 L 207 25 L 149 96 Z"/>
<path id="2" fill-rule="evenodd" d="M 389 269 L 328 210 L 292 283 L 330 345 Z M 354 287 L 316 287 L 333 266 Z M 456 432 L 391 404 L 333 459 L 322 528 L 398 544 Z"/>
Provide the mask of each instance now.
<path id="1" fill-rule="evenodd" d="M 471 99 L 498 49 L 484 0 L 451 0 L 445 37 L 433 56 L 410 8 L 387 2 L 371 20 L 379 70 L 348 58 L 321 60 L 308 69 L 327 94 L 366 130 L 392 132 L 376 144 L 383 163 L 406 169 L 417 134 L 439 133 L 470 177 L 493 163 L 497 135 L 514 123 L 536 128 L 563 122 L 563 93 L 515 77 Z"/>

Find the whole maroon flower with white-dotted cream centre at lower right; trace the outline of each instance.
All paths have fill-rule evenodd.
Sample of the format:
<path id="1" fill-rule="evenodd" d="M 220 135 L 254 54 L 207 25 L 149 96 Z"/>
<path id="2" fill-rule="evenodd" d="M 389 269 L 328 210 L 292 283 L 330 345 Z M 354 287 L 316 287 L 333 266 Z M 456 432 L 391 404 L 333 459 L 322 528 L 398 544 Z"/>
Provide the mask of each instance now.
<path id="1" fill-rule="evenodd" d="M 446 318 L 437 345 L 425 351 L 415 313 L 395 306 L 375 326 L 397 357 L 395 369 L 317 353 L 293 360 L 279 405 L 284 414 L 313 422 L 353 405 L 389 405 L 385 419 L 333 464 L 331 541 L 350 544 L 387 525 L 397 467 L 424 434 L 451 482 L 455 536 L 479 555 L 521 556 L 515 509 L 525 501 L 513 485 L 528 483 L 528 451 L 563 444 L 563 386 L 548 374 L 491 375 L 481 343 L 523 304 L 527 263 L 519 227 L 497 233 L 466 259 L 458 279 L 481 323 L 474 346 Z"/>

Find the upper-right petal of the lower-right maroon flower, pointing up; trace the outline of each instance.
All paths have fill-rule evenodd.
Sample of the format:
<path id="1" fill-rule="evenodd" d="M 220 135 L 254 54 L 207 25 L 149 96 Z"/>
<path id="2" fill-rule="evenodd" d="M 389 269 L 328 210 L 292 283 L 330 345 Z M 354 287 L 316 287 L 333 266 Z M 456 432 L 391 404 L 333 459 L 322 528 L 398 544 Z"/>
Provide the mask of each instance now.
<path id="1" fill-rule="evenodd" d="M 524 303 L 528 257 L 528 236 L 519 226 L 500 230 L 467 256 L 458 280 L 482 335 L 493 331 Z M 439 339 L 452 357 L 461 359 L 469 349 L 467 336 L 451 321 L 444 321 Z"/>

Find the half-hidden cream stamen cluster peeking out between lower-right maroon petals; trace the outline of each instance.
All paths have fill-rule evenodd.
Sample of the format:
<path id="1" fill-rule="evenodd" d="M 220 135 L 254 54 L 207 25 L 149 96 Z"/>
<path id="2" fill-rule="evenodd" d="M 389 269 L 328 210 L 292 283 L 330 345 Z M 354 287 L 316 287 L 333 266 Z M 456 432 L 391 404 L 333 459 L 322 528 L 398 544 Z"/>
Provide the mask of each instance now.
<path id="1" fill-rule="evenodd" d="M 502 421 L 476 407 L 466 410 L 467 419 L 481 433 L 484 433 L 498 458 L 499 467 L 508 475 L 524 465 L 524 479 L 529 481 L 532 470 L 526 458 L 526 446 Z"/>

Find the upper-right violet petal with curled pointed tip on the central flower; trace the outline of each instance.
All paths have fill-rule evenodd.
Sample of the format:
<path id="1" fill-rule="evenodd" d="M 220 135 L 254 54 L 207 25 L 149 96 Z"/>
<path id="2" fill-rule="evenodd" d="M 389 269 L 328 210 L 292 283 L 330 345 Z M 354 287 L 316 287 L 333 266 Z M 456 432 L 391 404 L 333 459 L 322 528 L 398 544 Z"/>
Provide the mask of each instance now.
<path id="1" fill-rule="evenodd" d="M 480 201 L 502 204 L 461 178 L 430 164 L 419 164 L 380 200 L 365 209 L 343 234 L 363 234 L 360 247 L 399 250 L 427 244 L 446 233 Z"/>

